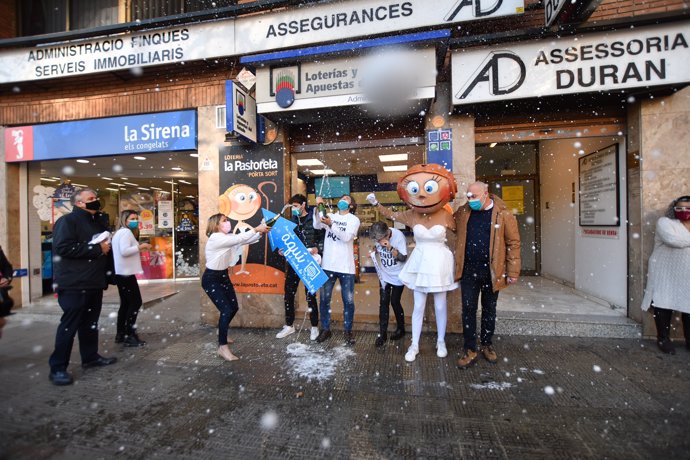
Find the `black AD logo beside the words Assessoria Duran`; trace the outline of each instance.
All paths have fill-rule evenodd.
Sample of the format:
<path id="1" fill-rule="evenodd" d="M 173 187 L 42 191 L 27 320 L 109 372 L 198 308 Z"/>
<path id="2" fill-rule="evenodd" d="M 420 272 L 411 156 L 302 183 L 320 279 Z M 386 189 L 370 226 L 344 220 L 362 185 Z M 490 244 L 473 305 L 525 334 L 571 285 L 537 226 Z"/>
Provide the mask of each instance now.
<path id="1" fill-rule="evenodd" d="M 510 51 L 492 51 L 472 73 L 455 97 L 465 99 L 480 83 L 488 83 L 492 96 L 509 94 L 525 82 L 527 69 L 522 59 Z"/>

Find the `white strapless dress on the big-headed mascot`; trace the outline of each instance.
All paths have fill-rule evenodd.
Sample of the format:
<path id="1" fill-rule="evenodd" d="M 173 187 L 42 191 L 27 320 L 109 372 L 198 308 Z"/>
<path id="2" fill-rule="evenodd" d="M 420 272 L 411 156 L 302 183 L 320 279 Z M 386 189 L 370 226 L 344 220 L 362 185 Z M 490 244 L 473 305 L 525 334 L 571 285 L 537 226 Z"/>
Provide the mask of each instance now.
<path id="1" fill-rule="evenodd" d="M 427 229 L 421 224 L 412 228 L 416 246 L 405 262 L 400 281 L 412 290 L 445 292 L 458 287 L 453 279 L 455 262 L 446 245 L 446 227 L 434 225 Z"/>

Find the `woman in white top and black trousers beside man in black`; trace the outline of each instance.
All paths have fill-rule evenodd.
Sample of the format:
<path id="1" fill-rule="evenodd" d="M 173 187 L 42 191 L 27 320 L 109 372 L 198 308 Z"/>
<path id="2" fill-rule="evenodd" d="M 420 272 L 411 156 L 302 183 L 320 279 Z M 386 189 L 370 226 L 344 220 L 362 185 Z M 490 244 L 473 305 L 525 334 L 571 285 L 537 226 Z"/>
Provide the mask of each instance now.
<path id="1" fill-rule="evenodd" d="M 117 333 L 115 343 L 126 347 L 141 347 L 146 342 L 139 338 L 134 323 L 141 308 L 141 291 L 137 277 L 143 273 L 141 251 L 148 251 L 151 245 L 139 243 L 139 214 L 127 210 L 120 214 L 120 229 L 113 236 L 113 257 L 115 259 L 115 284 L 120 294 L 120 309 L 117 312 Z"/>

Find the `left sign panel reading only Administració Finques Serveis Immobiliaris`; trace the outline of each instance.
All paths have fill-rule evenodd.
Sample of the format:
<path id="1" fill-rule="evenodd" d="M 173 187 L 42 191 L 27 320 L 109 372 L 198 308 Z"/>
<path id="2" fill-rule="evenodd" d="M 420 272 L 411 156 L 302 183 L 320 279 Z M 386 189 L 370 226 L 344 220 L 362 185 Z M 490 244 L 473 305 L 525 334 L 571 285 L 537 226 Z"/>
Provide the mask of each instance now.
<path id="1" fill-rule="evenodd" d="M 0 84 L 232 55 L 233 34 L 234 22 L 223 21 L 3 51 Z"/>

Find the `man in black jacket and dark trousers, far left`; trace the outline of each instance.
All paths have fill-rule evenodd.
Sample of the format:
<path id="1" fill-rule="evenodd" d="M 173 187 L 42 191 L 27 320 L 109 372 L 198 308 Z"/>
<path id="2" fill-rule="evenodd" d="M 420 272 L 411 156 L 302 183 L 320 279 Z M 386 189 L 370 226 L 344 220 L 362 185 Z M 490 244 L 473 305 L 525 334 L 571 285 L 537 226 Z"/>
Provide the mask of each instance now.
<path id="1" fill-rule="evenodd" d="M 50 381 L 55 385 L 73 382 L 67 372 L 74 336 L 79 335 L 83 368 L 107 366 L 117 358 L 98 354 L 98 317 L 107 287 L 110 241 L 91 241 L 107 231 L 100 202 L 90 188 L 77 190 L 71 198 L 72 212 L 62 216 L 53 228 L 54 283 L 63 314 L 50 355 Z"/>

